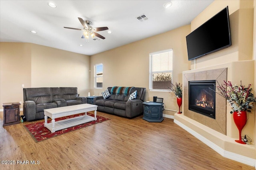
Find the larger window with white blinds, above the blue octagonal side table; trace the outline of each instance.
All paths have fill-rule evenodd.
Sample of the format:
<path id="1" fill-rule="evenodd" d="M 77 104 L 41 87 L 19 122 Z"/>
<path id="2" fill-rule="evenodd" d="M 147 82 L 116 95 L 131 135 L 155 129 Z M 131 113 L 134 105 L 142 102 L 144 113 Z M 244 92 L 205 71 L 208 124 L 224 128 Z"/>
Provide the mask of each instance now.
<path id="1" fill-rule="evenodd" d="M 172 49 L 149 54 L 149 90 L 168 91 L 172 82 Z"/>

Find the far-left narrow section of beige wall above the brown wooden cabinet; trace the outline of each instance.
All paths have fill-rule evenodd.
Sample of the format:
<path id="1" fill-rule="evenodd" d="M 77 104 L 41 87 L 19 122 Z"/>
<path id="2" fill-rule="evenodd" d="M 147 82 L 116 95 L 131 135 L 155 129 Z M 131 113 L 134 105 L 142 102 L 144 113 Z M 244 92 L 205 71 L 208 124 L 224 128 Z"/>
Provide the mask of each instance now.
<path id="1" fill-rule="evenodd" d="M 22 84 L 31 86 L 31 44 L 0 43 L 0 108 L 22 102 Z"/>

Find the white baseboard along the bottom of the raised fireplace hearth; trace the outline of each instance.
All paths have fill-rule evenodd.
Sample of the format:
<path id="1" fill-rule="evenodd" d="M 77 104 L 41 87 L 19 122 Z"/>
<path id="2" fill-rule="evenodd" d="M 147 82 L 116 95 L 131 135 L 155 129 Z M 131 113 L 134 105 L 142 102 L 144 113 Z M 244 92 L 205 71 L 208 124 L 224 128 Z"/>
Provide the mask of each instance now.
<path id="1" fill-rule="evenodd" d="M 194 131 L 194 130 L 190 129 L 189 127 L 187 127 L 186 125 L 180 123 L 176 119 L 174 119 L 174 123 L 176 123 L 177 125 L 179 125 L 183 129 L 188 131 L 188 133 L 192 134 L 194 137 L 196 137 L 197 139 L 199 139 L 200 141 L 202 141 L 203 143 L 208 145 L 210 148 L 212 148 L 213 150 L 218 152 L 223 157 L 235 160 L 237 162 L 241 162 L 241 163 L 249 165 L 249 166 L 253 166 L 256 169 L 256 159 L 248 158 L 248 157 L 240 155 L 240 154 L 236 154 L 236 153 L 233 153 L 233 152 L 226 151 L 226 150 L 220 148 L 218 145 L 212 143 L 211 141 L 209 141 L 208 139 L 206 139 L 205 137 L 203 137 L 202 135 L 200 135 L 196 131 Z"/>

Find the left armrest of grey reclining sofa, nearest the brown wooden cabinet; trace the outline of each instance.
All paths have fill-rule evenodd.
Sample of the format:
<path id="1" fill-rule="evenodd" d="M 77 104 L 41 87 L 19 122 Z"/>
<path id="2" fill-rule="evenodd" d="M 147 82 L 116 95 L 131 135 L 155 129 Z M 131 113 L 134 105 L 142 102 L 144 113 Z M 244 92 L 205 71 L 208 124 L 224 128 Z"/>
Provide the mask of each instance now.
<path id="1" fill-rule="evenodd" d="M 23 103 L 23 115 L 26 116 L 27 121 L 36 119 L 36 103 L 27 100 Z"/>

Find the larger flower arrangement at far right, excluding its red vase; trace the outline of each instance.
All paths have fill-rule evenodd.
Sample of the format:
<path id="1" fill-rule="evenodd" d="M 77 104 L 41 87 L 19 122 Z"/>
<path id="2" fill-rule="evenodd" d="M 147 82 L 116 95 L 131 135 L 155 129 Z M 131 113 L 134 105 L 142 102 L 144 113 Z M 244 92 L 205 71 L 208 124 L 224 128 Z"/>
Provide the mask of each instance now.
<path id="1" fill-rule="evenodd" d="M 252 94 L 252 84 L 249 84 L 246 88 L 242 86 L 242 81 L 240 86 L 233 86 L 230 81 L 225 82 L 224 84 L 219 84 L 216 86 L 219 93 L 222 97 L 226 98 L 227 102 L 231 105 L 233 113 L 234 111 L 248 111 L 251 112 L 252 104 L 256 102 L 256 98 Z"/>

